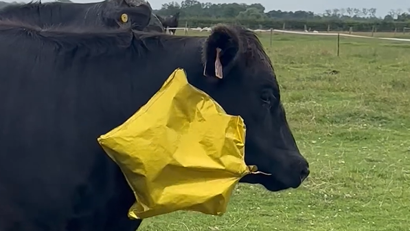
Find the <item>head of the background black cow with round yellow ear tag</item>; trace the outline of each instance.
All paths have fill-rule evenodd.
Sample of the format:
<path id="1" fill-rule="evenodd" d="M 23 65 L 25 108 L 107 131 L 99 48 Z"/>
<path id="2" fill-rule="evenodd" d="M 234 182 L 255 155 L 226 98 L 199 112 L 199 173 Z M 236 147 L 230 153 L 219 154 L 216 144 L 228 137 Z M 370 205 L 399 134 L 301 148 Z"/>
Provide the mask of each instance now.
<path id="1" fill-rule="evenodd" d="M 151 19 L 152 8 L 145 1 L 109 0 L 104 11 L 104 23 L 110 27 L 131 27 L 142 31 Z"/>

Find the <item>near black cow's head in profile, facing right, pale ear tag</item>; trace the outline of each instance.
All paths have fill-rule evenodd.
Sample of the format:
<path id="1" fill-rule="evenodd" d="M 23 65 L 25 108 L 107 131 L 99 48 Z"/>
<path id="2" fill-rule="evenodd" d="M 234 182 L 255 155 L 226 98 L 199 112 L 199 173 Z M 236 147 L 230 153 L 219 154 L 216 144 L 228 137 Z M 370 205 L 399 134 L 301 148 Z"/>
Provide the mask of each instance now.
<path id="1" fill-rule="evenodd" d="M 271 191 L 297 188 L 309 175 L 289 129 L 269 57 L 257 36 L 240 27 L 217 25 L 203 48 L 207 92 L 247 126 L 245 162 L 267 173 L 241 181 Z"/>

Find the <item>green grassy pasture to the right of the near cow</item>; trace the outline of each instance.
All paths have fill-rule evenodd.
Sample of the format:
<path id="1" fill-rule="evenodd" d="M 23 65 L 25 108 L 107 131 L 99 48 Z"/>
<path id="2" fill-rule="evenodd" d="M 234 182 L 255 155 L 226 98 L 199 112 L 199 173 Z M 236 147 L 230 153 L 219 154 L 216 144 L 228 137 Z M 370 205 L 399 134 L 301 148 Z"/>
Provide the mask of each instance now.
<path id="1" fill-rule="evenodd" d="M 241 184 L 222 217 L 175 212 L 141 230 L 410 230 L 410 43 L 341 38 L 337 57 L 335 38 L 260 39 L 310 177 L 276 193 Z"/>

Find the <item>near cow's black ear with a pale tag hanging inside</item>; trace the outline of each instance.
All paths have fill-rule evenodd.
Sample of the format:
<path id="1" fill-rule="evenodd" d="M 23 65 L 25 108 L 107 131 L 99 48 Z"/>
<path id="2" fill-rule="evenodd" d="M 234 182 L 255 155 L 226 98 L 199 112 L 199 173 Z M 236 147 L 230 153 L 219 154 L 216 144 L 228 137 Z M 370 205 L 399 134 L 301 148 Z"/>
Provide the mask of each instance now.
<path id="1" fill-rule="evenodd" d="M 240 41 L 238 32 L 226 25 L 216 25 L 204 46 L 203 74 L 207 77 L 223 78 L 234 65 Z"/>

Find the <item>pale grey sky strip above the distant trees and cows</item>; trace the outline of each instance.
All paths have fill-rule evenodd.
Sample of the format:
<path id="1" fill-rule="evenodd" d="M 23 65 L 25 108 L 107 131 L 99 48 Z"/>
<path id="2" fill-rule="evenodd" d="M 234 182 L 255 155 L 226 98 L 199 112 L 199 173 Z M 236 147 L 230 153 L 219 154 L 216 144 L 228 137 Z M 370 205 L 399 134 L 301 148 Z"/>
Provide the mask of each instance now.
<path id="1" fill-rule="evenodd" d="M 2 1 L 14 1 L 14 0 L 2 0 Z M 19 1 L 19 0 L 17 0 Z M 20 0 L 21 1 L 21 0 Z M 23 0 L 27 1 L 27 0 Z M 42 2 L 52 1 L 43 0 Z M 71 0 L 77 3 L 90 3 L 102 0 Z M 171 0 L 148 0 L 152 8 L 159 9 L 163 3 L 168 3 Z M 312 11 L 317 14 L 323 13 L 327 9 L 334 8 L 376 8 L 376 16 L 384 17 L 390 10 L 396 10 L 401 8 L 407 12 L 410 8 L 409 0 L 200 0 L 201 2 L 211 3 L 261 3 L 266 8 L 266 12 L 270 10 L 282 10 L 282 11 L 296 11 L 306 10 Z M 176 2 L 180 3 L 181 0 Z"/>

